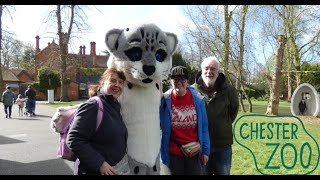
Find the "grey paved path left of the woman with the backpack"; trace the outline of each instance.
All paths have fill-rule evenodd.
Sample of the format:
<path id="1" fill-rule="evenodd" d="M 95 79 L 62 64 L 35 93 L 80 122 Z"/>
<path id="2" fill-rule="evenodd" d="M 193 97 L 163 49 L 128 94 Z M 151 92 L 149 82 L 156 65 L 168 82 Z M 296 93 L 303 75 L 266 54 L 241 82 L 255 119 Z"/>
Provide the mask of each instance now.
<path id="1" fill-rule="evenodd" d="M 0 104 L 0 175 L 65 175 L 72 174 L 73 162 L 58 159 L 59 135 L 50 128 L 55 108 L 36 103 L 36 116 L 18 116 L 12 108 L 12 118 L 5 118 Z"/>

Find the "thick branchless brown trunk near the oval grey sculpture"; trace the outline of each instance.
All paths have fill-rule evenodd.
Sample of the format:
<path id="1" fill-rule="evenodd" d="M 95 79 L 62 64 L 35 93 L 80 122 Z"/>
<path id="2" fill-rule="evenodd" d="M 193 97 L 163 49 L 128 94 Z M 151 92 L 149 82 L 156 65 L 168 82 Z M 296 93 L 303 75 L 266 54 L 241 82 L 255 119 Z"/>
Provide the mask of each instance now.
<path id="1" fill-rule="evenodd" d="M 280 80 L 283 63 L 284 47 L 286 44 L 286 38 L 284 35 L 278 36 L 278 49 L 275 61 L 275 70 L 271 81 L 270 99 L 267 107 L 266 114 L 278 115 L 279 110 L 279 96 L 280 96 Z"/>

